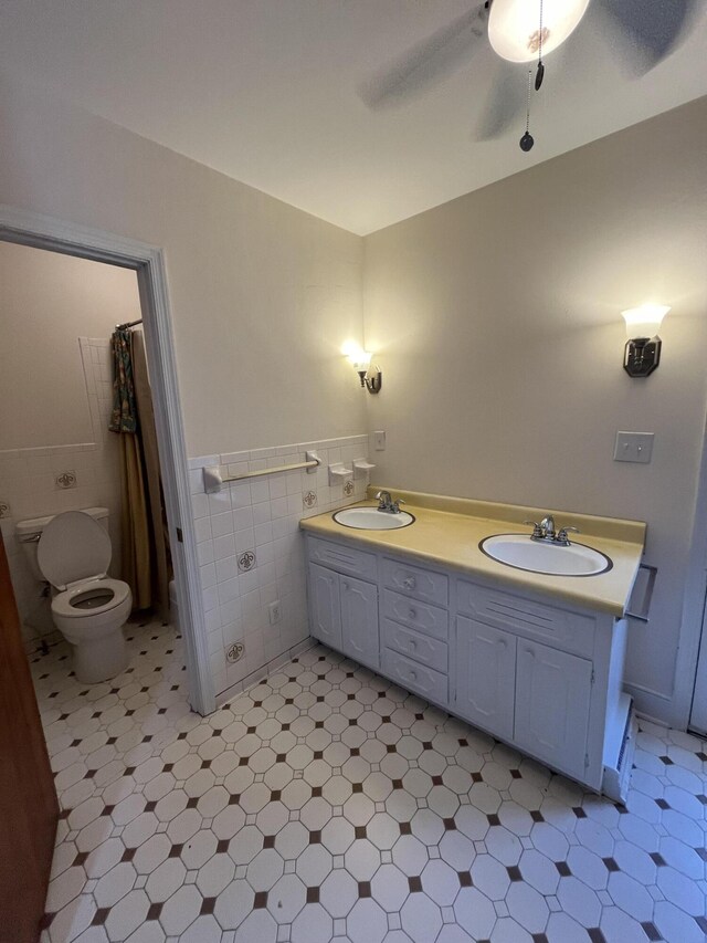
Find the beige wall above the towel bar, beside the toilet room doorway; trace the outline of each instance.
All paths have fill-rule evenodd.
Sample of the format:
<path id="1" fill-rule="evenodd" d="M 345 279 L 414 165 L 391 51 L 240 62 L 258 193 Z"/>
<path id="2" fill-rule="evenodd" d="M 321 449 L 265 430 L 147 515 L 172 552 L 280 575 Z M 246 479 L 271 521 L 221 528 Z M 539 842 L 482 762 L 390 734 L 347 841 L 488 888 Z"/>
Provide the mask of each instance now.
<path id="1" fill-rule="evenodd" d="M 359 237 L 8 78 L 0 123 L 0 202 L 165 249 L 190 454 L 363 429 Z"/>

